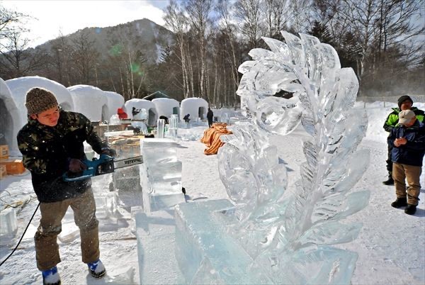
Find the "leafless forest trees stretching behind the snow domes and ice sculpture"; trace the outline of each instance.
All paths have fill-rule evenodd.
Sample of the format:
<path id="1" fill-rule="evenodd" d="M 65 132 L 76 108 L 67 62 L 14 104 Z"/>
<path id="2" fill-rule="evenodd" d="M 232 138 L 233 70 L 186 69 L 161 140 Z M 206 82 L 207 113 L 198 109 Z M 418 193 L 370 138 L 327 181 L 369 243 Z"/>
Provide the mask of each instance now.
<path id="1" fill-rule="evenodd" d="M 160 60 L 132 48 L 132 35 L 108 39 L 101 55 L 89 33 L 61 35 L 49 49 L 29 48 L 28 16 L 0 7 L 0 77 L 39 75 L 64 86 L 89 84 L 125 99 L 163 91 L 182 100 L 199 96 L 212 106 L 236 106 L 249 50 L 280 30 L 329 43 L 342 67 L 352 67 L 360 96 L 425 94 L 424 0 L 171 0 L 164 9 L 172 44 Z"/>

